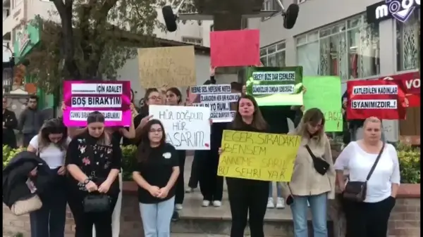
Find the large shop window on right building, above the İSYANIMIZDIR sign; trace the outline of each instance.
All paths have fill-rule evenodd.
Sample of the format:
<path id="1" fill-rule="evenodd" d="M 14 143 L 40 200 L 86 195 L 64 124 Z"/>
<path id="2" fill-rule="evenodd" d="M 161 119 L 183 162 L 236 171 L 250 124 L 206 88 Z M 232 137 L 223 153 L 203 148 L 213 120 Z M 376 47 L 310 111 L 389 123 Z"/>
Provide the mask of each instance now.
<path id="1" fill-rule="evenodd" d="M 296 38 L 304 75 L 338 75 L 343 80 L 379 75 L 379 24 L 364 15 Z"/>

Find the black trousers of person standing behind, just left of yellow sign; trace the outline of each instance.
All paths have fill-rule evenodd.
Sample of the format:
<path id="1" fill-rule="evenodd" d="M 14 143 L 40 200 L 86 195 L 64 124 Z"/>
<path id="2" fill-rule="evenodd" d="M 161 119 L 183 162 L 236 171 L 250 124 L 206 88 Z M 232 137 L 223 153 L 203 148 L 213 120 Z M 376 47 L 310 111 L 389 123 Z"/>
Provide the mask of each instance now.
<path id="1" fill-rule="evenodd" d="M 200 162 L 200 191 L 203 200 L 222 200 L 223 177 L 217 176 L 219 154 L 217 150 L 202 150 Z"/>

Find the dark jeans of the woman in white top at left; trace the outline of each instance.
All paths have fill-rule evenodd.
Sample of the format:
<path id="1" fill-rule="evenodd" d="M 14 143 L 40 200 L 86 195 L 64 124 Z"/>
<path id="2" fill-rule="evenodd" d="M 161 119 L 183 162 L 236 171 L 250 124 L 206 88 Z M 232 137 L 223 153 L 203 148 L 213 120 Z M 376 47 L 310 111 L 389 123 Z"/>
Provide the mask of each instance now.
<path id="1" fill-rule="evenodd" d="M 30 213 L 31 237 L 63 237 L 66 222 L 66 179 L 51 169 L 54 183 L 40 194 L 41 209 Z"/>

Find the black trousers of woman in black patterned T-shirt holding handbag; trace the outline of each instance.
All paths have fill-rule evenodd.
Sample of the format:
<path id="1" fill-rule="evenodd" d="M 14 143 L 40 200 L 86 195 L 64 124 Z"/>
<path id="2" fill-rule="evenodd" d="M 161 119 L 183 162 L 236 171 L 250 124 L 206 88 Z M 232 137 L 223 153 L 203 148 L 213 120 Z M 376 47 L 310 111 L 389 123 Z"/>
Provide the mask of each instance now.
<path id="1" fill-rule="evenodd" d="M 79 196 L 70 196 L 68 205 L 75 220 L 75 237 L 92 237 L 92 225 L 95 226 L 96 237 L 112 237 L 111 214 L 113 214 L 118 195 L 111 197 L 109 212 L 86 213 Z"/>

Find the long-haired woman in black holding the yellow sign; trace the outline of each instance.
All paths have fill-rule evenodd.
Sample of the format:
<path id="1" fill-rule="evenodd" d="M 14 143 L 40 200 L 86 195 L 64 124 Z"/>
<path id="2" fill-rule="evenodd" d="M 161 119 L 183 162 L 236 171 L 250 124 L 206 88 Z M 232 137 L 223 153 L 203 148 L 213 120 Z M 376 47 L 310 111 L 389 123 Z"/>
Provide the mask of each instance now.
<path id="1" fill-rule="evenodd" d="M 255 98 L 243 95 L 238 100 L 233 122 L 228 129 L 247 132 L 268 132 Z M 219 148 L 219 154 L 222 149 Z M 232 226 L 231 237 L 243 237 L 250 213 L 250 233 L 252 237 L 264 237 L 263 225 L 266 214 L 269 181 L 238 179 L 226 177 L 228 184 L 229 204 L 231 205 Z"/>

